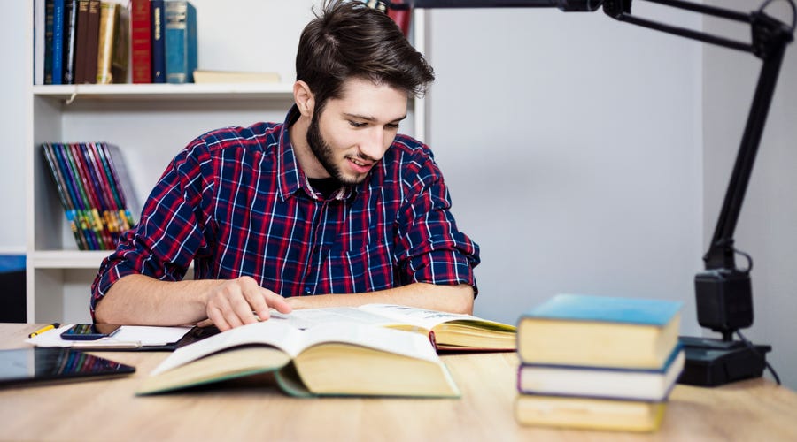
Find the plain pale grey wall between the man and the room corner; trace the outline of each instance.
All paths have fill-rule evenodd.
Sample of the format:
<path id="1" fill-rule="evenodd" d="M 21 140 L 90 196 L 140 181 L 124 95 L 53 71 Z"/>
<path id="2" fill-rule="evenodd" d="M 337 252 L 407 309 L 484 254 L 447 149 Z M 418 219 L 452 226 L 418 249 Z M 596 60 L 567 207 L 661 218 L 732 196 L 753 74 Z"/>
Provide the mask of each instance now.
<path id="1" fill-rule="evenodd" d="M 698 334 L 700 45 L 601 12 L 430 23 L 429 141 L 482 247 L 476 314 L 515 323 L 555 293 L 657 297 L 684 301 L 682 331 Z"/>

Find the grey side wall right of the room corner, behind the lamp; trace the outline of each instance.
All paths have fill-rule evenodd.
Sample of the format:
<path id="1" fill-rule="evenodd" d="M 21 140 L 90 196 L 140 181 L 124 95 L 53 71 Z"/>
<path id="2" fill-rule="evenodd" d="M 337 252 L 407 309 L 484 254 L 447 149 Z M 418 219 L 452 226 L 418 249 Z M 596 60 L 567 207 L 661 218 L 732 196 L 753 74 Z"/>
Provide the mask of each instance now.
<path id="1" fill-rule="evenodd" d="M 711 0 L 746 11 L 748 0 Z M 756 4 L 757 7 L 757 4 Z M 771 15 L 791 23 L 785 2 L 774 2 Z M 745 27 L 707 21 L 707 31 L 749 41 Z M 736 50 L 707 47 L 704 52 L 703 108 L 706 217 L 704 247 L 714 232 L 730 179 L 747 111 L 762 62 Z M 728 66 L 733 66 L 729 69 Z M 746 333 L 770 344 L 770 362 L 785 385 L 797 389 L 797 46 L 786 56 L 770 116 L 739 215 L 736 247 L 753 256 L 754 324 Z M 739 267 L 746 265 L 743 258 Z"/>

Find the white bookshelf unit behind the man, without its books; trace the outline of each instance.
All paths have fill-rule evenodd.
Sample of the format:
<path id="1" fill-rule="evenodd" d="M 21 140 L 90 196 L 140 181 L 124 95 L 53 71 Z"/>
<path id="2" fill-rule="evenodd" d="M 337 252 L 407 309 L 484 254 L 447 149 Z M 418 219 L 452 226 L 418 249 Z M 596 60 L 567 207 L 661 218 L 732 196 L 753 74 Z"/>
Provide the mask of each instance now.
<path id="1" fill-rule="evenodd" d="M 238 63 L 223 48 L 236 47 L 240 52 L 242 41 L 254 41 L 250 46 L 262 48 L 257 42 L 269 36 L 277 42 L 298 42 L 302 27 L 312 17 L 311 6 L 320 2 L 236 2 L 237 8 L 250 8 L 251 15 L 284 14 L 285 20 L 269 20 L 276 27 L 270 34 L 257 26 L 257 20 L 241 18 L 239 10 L 225 9 L 221 2 L 192 0 L 191 3 L 197 7 L 200 69 L 275 71 L 283 81 L 274 84 L 33 85 L 30 80 L 26 87 L 27 125 L 24 128 L 27 322 L 88 321 L 89 287 L 99 264 L 111 253 L 78 250 L 39 149 L 43 142 L 106 141 L 119 146 L 133 181 L 134 188 L 128 197 L 135 198 L 141 206 L 167 162 L 198 134 L 222 126 L 282 121 L 293 103 L 291 80 L 294 78 L 295 43 L 288 45 L 290 50 L 287 51 L 282 48 L 285 44 L 279 44 L 282 51 L 275 51 L 275 57 L 267 60 L 266 65 L 257 66 L 251 65 L 251 54 Z M 33 2 L 27 8 L 27 78 L 33 79 Z M 230 26 L 232 17 L 239 22 L 235 32 L 222 32 Z M 423 11 L 415 11 L 413 20 L 412 39 L 423 51 L 426 26 Z M 245 31 L 247 23 L 252 27 L 249 34 Z M 242 38 L 248 40 L 240 40 Z M 424 140 L 423 100 L 411 102 L 406 125 L 401 130 Z M 135 213 L 134 217 L 137 221 L 139 214 Z"/>

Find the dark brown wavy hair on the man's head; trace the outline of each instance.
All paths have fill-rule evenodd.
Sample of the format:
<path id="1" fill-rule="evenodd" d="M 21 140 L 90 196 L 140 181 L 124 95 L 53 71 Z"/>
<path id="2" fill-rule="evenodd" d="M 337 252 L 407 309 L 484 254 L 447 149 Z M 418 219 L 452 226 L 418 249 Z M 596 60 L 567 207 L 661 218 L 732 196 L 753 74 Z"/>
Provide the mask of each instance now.
<path id="1" fill-rule="evenodd" d="M 302 31 L 296 80 L 307 83 L 320 112 L 329 98 L 340 98 L 350 78 L 417 97 L 426 93 L 435 74 L 387 14 L 361 2 L 332 0 Z"/>

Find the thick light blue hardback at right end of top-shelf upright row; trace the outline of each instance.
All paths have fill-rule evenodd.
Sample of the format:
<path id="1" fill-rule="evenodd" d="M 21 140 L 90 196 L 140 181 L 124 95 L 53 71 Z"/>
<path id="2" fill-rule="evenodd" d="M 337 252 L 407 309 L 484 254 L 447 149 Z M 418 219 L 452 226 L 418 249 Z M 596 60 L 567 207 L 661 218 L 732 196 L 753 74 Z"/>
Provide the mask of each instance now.
<path id="1" fill-rule="evenodd" d="M 166 82 L 193 83 L 197 69 L 197 10 L 190 2 L 166 2 Z"/>

